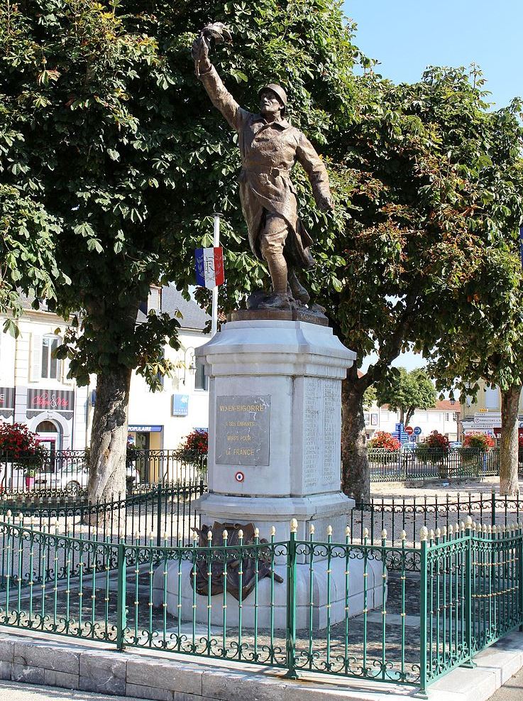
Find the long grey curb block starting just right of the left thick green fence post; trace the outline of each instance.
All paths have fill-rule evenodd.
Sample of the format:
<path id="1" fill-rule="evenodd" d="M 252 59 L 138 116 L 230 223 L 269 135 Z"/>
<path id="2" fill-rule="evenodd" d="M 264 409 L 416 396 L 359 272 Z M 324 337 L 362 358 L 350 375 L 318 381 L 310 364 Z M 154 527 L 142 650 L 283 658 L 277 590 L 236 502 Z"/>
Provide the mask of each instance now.
<path id="1" fill-rule="evenodd" d="M 202 671 L 177 660 L 154 661 L 134 657 L 127 662 L 128 684 L 202 695 Z"/>

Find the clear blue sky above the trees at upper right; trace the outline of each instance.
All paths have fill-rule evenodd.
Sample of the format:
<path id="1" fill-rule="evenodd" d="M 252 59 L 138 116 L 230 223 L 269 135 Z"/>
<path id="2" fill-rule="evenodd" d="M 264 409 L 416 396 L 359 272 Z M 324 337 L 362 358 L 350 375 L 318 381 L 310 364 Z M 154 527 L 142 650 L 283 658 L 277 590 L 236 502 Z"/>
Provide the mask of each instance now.
<path id="1" fill-rule="evenodd" d="M 427 65 L 476 63 L 491 102 L 523 97 L 523 0 L 346 0 L 356 45 L 394 82 L 419 80 Z"/>

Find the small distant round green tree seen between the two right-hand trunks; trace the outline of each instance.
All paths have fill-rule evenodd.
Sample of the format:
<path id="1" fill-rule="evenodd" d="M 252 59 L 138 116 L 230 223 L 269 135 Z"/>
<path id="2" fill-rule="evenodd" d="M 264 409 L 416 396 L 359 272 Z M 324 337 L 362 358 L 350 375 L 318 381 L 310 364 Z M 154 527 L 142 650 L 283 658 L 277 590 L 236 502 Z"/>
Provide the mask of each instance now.
<path id="1" fill-rule="evenodd" d="M 391 368 L 388 381 L 378 387 L 378 403 L 399 410 L 401 423 L 408 425 L 416 409 L 436 406 L 436 388 L 424 369 Z"/>

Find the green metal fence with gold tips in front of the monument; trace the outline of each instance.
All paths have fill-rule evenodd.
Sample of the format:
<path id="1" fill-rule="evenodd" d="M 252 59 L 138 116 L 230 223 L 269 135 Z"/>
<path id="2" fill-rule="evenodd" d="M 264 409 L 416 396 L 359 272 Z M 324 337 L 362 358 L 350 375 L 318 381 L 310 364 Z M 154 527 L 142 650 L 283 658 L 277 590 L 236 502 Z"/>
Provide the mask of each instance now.
<path id="1" fill-rule="evenodd" d="M 424 692 L 523 624 L 519 525 L 468 518 L 424 528 L 417 548 L 404 532 L 398 545 L 386 531 L 351 543 L 348 529 L 343 542 L 314 529 L 299 540 L 295 522 L 288 540 L 273 530 L 270 542 L 88 536 L 0 520 L 0 625 Z"/>

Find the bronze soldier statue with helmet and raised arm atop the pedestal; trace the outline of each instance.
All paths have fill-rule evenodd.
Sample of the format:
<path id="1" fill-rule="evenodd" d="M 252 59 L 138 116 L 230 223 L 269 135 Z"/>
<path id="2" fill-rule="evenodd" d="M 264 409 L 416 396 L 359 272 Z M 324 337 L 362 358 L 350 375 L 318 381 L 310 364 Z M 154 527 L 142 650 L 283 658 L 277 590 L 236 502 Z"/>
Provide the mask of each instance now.
<path id="1" fill-rule="evenodd" d="M 312 239 L 298 217 L 290 170 L 296 161 L 302 164 L 321 210 L 334 208 L 329 176 L 312 143 L 285 119 L 287 95 L 280 85 L 270 83 L 260 90 L 259 114 L 247 112 L 228 92 L 209 60 L 209 37 L 223 40 L 221 32 L 229 36 L 220 23 L 204 27 L 192 55 L 196 75 L 212 103 L 238 132 L 242 161 L 238 182 L 249 243 L 255 256 L 267 262 L 272 281 L 272 294 L 251 295 L 257 303 L 251 299 L 250 306 L 289 310 L 295 300 L 310 301 L 295 269 L 314 265 L 309 251 Z"/>

